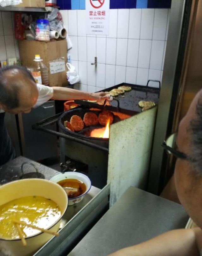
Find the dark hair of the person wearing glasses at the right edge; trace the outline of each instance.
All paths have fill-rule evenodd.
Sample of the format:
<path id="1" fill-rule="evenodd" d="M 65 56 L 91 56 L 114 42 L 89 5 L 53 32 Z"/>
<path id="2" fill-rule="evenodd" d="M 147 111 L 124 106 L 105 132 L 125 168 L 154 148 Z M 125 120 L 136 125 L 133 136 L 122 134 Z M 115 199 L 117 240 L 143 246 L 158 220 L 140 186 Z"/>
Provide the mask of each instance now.
<path id="1" fill-rule="evenodd" d="M 191 157 L 188 159 L 194 170 L 202 175 L 202 92 L 196 105 L 195 117 L 190 122 L 188 130 L 191 131 Z"/>

